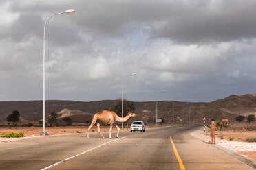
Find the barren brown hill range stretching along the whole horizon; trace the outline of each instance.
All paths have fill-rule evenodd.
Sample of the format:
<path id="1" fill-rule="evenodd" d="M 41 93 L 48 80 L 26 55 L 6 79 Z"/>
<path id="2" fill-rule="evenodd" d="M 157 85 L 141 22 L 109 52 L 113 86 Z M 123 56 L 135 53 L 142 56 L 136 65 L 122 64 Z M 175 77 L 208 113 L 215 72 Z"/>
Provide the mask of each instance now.
<path id="1" fill-rule="evenodd" d="M 114 100 L 103 101 L 45 101 L 46 116 L 50 112 L 62 112 L 63 117 L 72 117 L 74 121 L 84 122 L 92 119 L 92 116 L 102 108 L 111 108 Z M 156 122 L 156 101 L 135 102 L 137 117 L 146 123 Z M 5 121 L 8 114 L 13 110 L 19 110 L 21 118 L 28 121 L 39 121 L 42 119 L 42 101 L 0 101 L 0 121 Z M 174 111 L 174 112 L 173 112 Z M 182 101 L 158 101 L 158 119 L 164 123 L 180 122 L 184 119 L 187 123 L 202 122 L 202 117 L 215 120 L 230 119 L 235 121 L 239 114 L 247 116 L 256 115 L 256 95 L 231 95 L 224 99 L 218 99 L 209 103 L 192 103 Z M 74 122 L 72 121 L 72 122 Z"/>

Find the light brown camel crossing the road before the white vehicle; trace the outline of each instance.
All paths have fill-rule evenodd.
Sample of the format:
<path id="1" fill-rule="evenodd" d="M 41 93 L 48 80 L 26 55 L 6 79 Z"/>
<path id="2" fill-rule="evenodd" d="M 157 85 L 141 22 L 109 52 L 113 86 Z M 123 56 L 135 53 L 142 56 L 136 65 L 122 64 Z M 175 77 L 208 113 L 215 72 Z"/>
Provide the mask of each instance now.
<path id="1" fill-rule="evenodd" d="M 115 112 L 109 111 L 108 109 L 102 109 L 100 110 L 100 112 L 97 112 L 96 114 L 94 114 L 94 118 L 92 119 L 92 123 L 88 128 L 88 133 L 87 133 L 87 138 L 89 138 L 89 130 L 92 128 L 92 126 L 97 122 L 97 129 L 98 129 L 98 133 L 100 133 L 100 123 L 103 123 L 105 125 L 110 124 L 110 128 L 109 128 L 109 138 L 111 138 L 111 131 L 112 131 L 112 126 L 116 126 L 118 132 L 116 135 L 116 138 L 119 138 L 118 134 L 119 134 L 119 130 L 120 128 L 116 125 L 116 122 L 125 122 L 128 119 L 130 119 L 131 117 L 135 117 L 136 114 L 129 112 L 127 114 L 126 117 L 118 117 L 118 115 Z M 102 138 L 105 138 L 103 136 L 103 134 L 100 133 L 100 136 Z"/>

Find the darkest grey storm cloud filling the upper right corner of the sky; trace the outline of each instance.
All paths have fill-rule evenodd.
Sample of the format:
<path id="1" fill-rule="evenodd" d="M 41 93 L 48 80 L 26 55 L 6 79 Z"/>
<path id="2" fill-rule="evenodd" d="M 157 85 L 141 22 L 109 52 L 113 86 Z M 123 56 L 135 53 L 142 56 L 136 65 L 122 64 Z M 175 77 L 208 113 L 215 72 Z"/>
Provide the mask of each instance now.
<path id="1" fill-rule="evenodd" d="M 155 21 L 151 35 L 185 43 L 228 42 L 256 36 L 256 1 L 198 2 L 178 7 L 182 14 L 169 14 Z"/>

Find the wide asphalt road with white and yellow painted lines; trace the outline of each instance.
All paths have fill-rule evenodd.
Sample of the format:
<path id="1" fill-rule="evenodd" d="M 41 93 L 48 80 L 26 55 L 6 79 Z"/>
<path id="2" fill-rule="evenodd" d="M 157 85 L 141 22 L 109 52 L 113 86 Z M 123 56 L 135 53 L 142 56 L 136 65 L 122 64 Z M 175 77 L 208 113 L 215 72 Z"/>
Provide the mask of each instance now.
<path id="1" fill-rule="evenodd" d="M 0 143 L 0 169 L 253 169 L 193 138 L 189 133 L 198 128 L 146 127 L 146 132 L 120 132 L 119 139 L 105 132 L 105 139 L 91 133 L 91 138 L 72 134 Z"/>

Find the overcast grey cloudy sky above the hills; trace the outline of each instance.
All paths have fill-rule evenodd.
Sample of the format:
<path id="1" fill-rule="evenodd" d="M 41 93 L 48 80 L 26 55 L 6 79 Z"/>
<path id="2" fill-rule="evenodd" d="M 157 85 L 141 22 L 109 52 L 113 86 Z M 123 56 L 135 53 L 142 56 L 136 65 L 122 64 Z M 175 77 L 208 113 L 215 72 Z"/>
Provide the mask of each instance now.
<path id="1" fill-rule="evenodd" d="M 1 0 L 0 101 L 213 101 L 256 90 L 255 0 Z M 132 76 L 131 73 L 138 75 Z M 162 93 L 167 90 L 167 93 Z"/>

